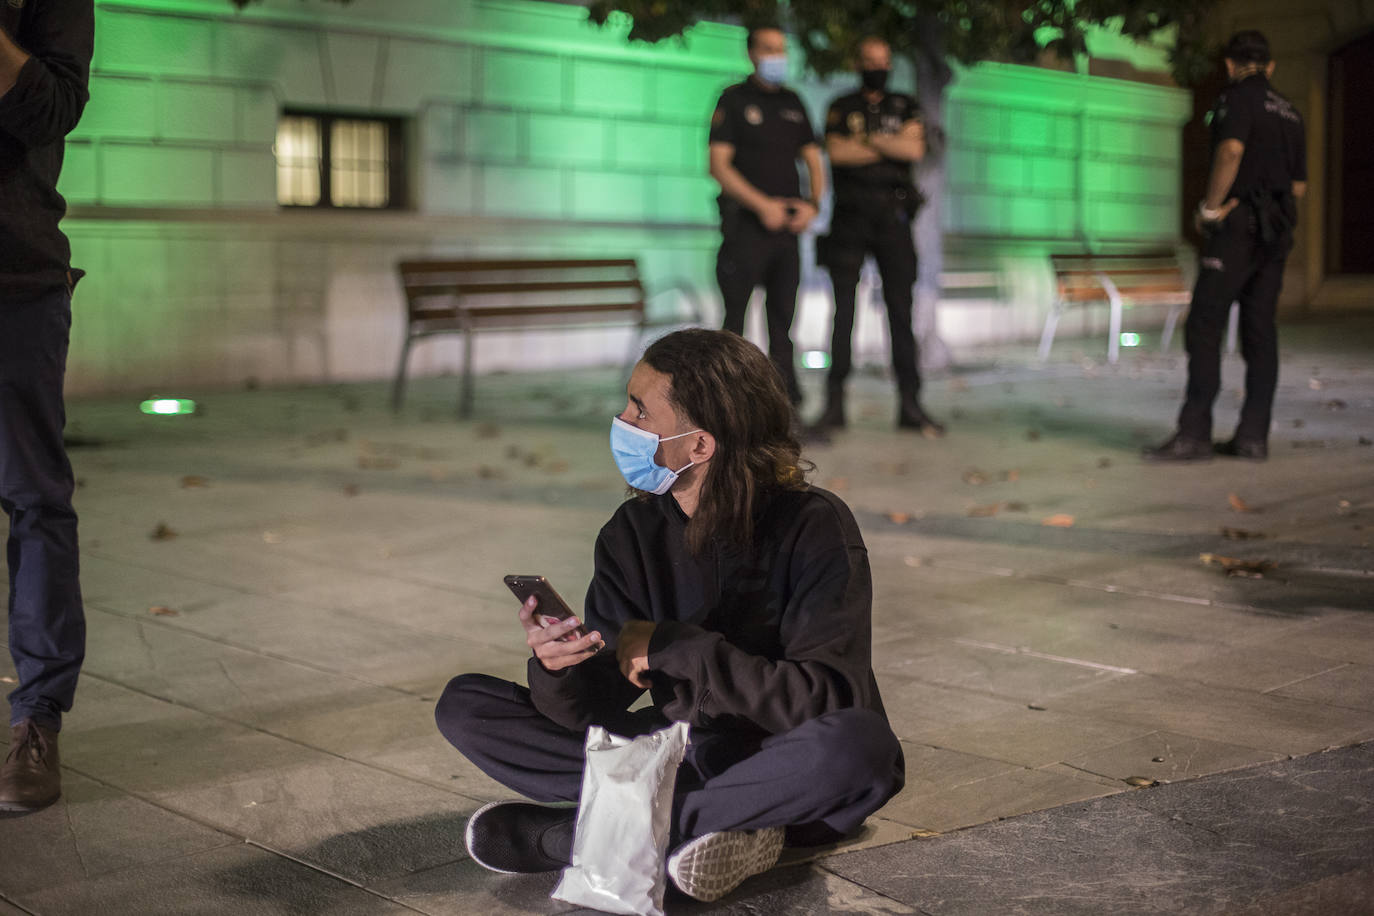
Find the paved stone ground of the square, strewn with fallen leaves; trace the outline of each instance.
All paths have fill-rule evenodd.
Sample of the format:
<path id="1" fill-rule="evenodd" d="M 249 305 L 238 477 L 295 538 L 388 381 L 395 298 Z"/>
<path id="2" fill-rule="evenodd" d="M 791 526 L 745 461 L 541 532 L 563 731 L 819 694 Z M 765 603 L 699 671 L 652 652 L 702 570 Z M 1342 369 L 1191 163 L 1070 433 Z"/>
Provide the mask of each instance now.
<path id="1" fill-rule="evenodd" d="M 1140 463 L 1176 354 L 963 354 L 927 386 L 941 441 L 857 379 L 809 457 L 871 551 L 907 788 L 857 843 L 671 909 L 1374 909 L 1371 345 L 1369 319 L 1285 328 L 1264 464 Z M 0 915 L 558 912 L 466 858 L 506 792 L 431 709 L 455 673 L 521 677 L 504 573 L 585 589 L 618 387 L 489 376 L 469 423 L 451 379 L 398 417 L 382 385 L 71 404 L 89 655 L 65 801 L 0 821 Z"/>

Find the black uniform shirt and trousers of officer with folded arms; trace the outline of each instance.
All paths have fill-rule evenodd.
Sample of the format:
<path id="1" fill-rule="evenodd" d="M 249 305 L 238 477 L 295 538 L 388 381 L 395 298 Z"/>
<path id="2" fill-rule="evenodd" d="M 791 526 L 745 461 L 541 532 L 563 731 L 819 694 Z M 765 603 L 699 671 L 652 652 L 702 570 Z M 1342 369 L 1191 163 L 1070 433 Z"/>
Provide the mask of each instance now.
<path id="1" fill-rule="evenodd" d="M 826 135 L 855 137 L 900 133 L 919 119 L 916 100 L 897 92 L 883 92 L 870 102 L 864 92 L 840 96 L 826 114 Z M 820 426 L 844 424 L 844 387 L 852 368 L 855 288 L 863 260 L 872 254 L 882 276 L 882 298 L 888 305 L 892 338 L 892 368 L 897 376 L 903 413 L 921 415 L 916 369 L 916 339 L 911 330 L 911 287 L 916 282 L 916 250 L 911 242 L 911 220 L 921 195 L 911 183 L 911 162 L 883 158 L 871 165 L 831 163 L 835 209 L 830 236 L 822 243 L 822 261 L 834 284 L 835 320 L 830 342 L 826 415 Z M 905 408 L 910 408 L 905 409 Z M 919 424 L 919 423 L 910 423 Z"/>

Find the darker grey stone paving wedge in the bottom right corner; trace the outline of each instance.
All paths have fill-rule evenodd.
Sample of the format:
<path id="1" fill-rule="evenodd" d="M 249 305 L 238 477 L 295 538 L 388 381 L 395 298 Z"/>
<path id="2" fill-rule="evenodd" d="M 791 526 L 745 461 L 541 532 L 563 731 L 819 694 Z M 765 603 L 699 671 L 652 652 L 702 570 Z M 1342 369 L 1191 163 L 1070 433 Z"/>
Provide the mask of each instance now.
<path id="1" fill-rule="evenodd" d="M 1374 747 L 1363 746 L 835 856 L 823 868 L 929 916 L 1276 916 L 1292 912 L 1286 901 L 1322 894 L 1323 912 L 1369 912 L 1371 798 Z"/>

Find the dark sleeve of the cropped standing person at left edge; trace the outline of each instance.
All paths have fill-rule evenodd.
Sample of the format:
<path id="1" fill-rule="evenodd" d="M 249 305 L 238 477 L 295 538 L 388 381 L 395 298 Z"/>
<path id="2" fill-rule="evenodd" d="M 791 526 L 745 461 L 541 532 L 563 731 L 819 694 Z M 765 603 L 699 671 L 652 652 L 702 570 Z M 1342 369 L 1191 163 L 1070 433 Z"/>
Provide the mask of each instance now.
<path id="1" fill-rule="evenodd" d="M 91 98 L 95 36 L 92 0 L 34 3 L 21 34 L 10 37 L 30 56 L 0 96 L 0 130 L 25 147 L 56 143 L 77 126 Z"/>

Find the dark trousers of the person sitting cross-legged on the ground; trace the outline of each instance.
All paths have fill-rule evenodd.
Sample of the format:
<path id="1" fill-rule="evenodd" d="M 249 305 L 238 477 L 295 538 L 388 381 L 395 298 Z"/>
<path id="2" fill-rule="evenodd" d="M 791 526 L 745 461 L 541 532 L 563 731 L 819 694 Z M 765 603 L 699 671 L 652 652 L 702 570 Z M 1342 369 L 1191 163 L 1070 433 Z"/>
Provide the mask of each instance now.
<path id="1" fill-rule="evenodd" d="M 507 788 L 537 802 L 574 802 L 581 794 L 585 735 L 545 718 L 528 688 L 460 674 L 444 688 L 434 720 L 453 747 Z M 769 736 L 694 728 L 677 772 L 673 842 L 764 827 L 789 828 L 797 845 L 834 842 L 904 781 L 901 746 L 870 710 L 827 713 Z"/>

